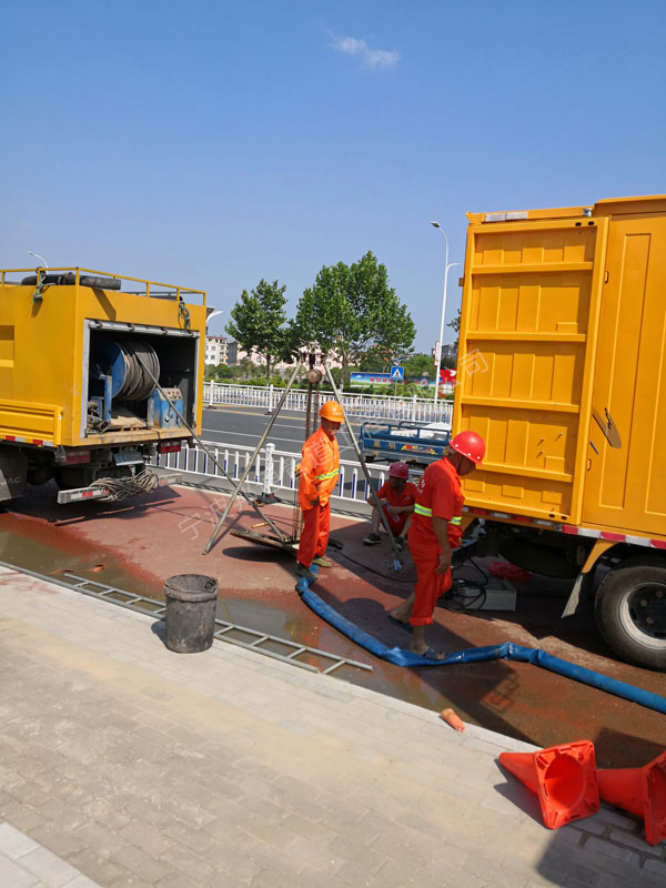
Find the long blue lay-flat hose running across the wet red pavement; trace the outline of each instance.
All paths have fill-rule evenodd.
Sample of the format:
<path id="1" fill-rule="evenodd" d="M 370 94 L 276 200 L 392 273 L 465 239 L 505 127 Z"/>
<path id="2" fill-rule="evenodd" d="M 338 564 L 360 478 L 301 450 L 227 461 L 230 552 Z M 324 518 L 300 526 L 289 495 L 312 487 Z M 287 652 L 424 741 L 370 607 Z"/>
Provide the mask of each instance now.
<path id="1" fill-rule="evenodd" d="M 342 614 L 323 602 L 316 593 L 312 592 L 309 586 L 310 583 L 306 581 L 297 588 L 302 599 L 315 614 L 319 614 L 322 619 L 325 619 L 326 623 L 330 623 L 334 628 L 371 654 L 396 666 L 451 666 L 456 663 L 480 663 L 487 659 L 515 659 L 522 663 L 532 663 L 534 666 L 549 669 L 558 675 L 564 675 L 566 678 L 574 678 L 584 685 L 596 687 L 599 690 L 614 694 L 616 697 L 623 697 L 632 703 L 637 703 L 639 706 L 646 706 L 666 715 L 666 697 L 628 685 L 626 682 L 618 682 L 617 678 L 595 673 L 584 666 L 576 666 L 574 663 L 568 663 L 536 647 L 522 647 L 521 645 L 514 645 L 513 642 L 505 642 L 504 644 L 490 645 L 488 647 L 468 647 L 436 660 L 426 659 L 402 647 L 389 647 L 374 636 L 360 629 L 346 617 L 343 617 Z"/>

